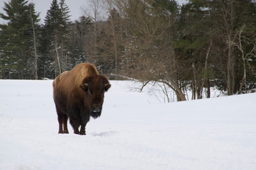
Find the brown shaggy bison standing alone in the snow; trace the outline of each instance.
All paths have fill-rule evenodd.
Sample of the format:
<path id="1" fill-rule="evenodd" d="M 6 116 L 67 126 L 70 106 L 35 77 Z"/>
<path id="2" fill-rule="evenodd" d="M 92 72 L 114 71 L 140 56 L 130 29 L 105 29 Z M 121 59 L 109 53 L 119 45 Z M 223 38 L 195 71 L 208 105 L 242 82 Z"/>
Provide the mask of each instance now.
<path id="1" fill-rule="evenodd" d="M 53 99 L 58 114 L 59 133 L 68 133 L 68 118 L 74 133 L 85 135 L 85 126 L 102 112 L 104 93 L 110 81 L 93 64 L 81 63 L 53 81 Z M 80 128 L 80 130 L 79 130 Z"/>

